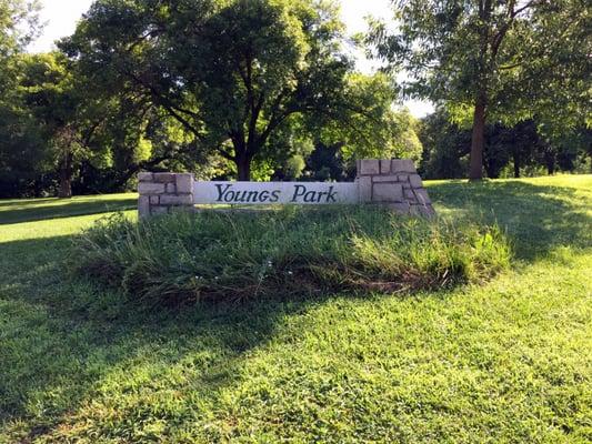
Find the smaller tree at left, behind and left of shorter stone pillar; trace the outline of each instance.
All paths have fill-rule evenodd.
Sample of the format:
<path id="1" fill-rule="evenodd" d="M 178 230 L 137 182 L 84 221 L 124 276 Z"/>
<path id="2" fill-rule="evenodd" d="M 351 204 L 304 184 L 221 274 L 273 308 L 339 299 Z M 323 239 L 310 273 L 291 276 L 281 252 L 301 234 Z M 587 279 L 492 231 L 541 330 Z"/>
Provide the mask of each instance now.
<path id="1" fill-rule="evenodd" d="M 38 178 L 57 176 L 60 198 L 70 198 L 73 185 L 80 189 L 81 184 L 93 191 L 111 191 L 112 181 L 111 188 L 101 186 L 101 182 L 109 182 L 114 171 L 129 169 L 139 151 L 150 157 L 150 147 L 142 144 L 144 127 L 138 122 L 136 108 L 127 107 L 122 98 L 94 100 L 77 75 L 76 65 L 62 53 L 16 59 L 13 102 L 18 103 L 21 124 L 34 128 L 38 134 L 38 145 L 23 144 L 22 149 L 38 160 L 37 168 L 31 169 Z M 83 165 L 97 167 L 98 174 L 86 168 L 88 176 L 82 176 Z"/>

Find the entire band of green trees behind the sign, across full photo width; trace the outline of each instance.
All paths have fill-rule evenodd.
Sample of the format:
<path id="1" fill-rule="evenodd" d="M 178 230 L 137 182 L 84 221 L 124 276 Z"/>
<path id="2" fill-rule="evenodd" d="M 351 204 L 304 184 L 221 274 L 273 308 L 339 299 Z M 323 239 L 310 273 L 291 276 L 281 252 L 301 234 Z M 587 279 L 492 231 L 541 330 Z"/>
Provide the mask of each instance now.
<path id="1" fill-rule="evenodd" d="M 355 41 L 337 4 L 97 0 L 29 54 L 38 2 L 0 0 L 0 196 L 130 190 L 141 170 L 345 180 L 359 158 L 429 178 L 590 170 L 581 0 L 402 1 L 395 33 L 371 21 Z M 384 68 L 357 72 L 352 44 Z M 417 121 L 403 97 L 438 111 Z"/>

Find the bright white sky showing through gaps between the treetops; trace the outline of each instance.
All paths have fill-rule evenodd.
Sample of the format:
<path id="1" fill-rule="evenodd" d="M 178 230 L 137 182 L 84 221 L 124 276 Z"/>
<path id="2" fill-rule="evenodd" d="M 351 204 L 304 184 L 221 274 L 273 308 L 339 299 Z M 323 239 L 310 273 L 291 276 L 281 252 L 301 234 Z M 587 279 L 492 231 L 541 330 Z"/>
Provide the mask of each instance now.
<path id="1" fill-rule="evenodd" d="M 74 32 L 77 21 L 84 13 L 92 0 L 42 0 L 41 19 L 46 22 L 42 36 L 29 47 L 30 52 L 44 52 L 54 48 L 53 42 Z M 367 30 L 364 18 L 374 16 L 388 19 L 391 17 L 390 0 L 341 0 L 342 19 L 350 34 Z M 373 63 L 357 53 L 358 68 L 371 72 Z M 418 118 L 433 111 L 430 103 L 408 101 L 404 103 Z"/>

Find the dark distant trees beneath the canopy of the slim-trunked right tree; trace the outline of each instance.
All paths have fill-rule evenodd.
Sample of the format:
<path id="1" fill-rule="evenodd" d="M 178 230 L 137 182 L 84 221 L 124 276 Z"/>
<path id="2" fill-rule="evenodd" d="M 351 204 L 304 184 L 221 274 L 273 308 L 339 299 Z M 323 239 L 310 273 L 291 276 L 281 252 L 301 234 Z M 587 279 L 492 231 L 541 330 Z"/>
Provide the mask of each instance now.
<path id="1" fill-rule="evenodd" d="M 485 127 L 483 169 L 490 179 L 544 174 L 592 173 L 592 130 L 585 125 L 548 128 L 532 119 L 512 127 Z M 422 119 L 420 172 L 425 179 L 469 175 L 471 128 L 454 123 L 444 109 Z"/>

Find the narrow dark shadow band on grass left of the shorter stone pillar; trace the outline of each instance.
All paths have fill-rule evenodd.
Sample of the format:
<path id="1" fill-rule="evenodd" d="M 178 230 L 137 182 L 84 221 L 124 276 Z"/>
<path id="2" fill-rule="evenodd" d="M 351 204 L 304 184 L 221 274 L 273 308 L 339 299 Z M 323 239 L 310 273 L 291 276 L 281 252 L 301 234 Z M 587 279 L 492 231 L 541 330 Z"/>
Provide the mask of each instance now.
<path id="1" fill-rule="evenodd" d="M 97 201 L 47 199 L 0 203 L 0 225 L 33 222 L 44 219 L 63 219 L 113 211 L 134 210 L 136 198 L 102 199 Z"/>

